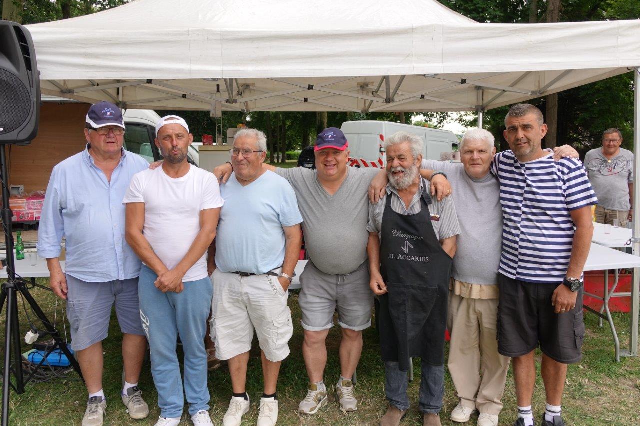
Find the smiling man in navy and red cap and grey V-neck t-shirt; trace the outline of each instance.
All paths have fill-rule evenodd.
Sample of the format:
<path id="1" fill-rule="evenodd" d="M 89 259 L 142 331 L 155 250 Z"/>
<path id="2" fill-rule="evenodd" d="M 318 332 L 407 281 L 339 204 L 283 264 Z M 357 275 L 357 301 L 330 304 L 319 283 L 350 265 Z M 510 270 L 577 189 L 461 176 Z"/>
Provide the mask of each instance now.
<path id="1" fill-rule="evenodd" d="M 263 163 L 264 168 L 275 171 L 292 185 L 304 219 L 302 229 L 309 261 L 300 276 L 302 290 L 298 301 L 309 383 L 307 395 L 298 408 L 300 413 L 315 414 L 328 402 L 324 384 L 325 341 L 337 309 L 342 341 L 340 378 L 335 390 L 340 409 L 356 411 L 353 374 L 362 354 L 362 330 L 371 326 L 374 297 L 369 287 L 367 261 L 367 193 L 372 179 L 379 174 L 384 180 L 380 188 L 386 186 L 386 172 L 349 167 L 349 143 L 342 130 L 335 127 L 324 129 L 317 136 L 315 152 L 316 170 L 275 168 Z M 227 182 L 230 173 L 228 164 L 214 170 L 222 182 Z"/>

